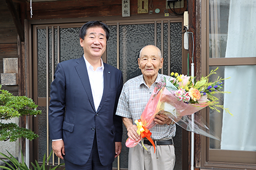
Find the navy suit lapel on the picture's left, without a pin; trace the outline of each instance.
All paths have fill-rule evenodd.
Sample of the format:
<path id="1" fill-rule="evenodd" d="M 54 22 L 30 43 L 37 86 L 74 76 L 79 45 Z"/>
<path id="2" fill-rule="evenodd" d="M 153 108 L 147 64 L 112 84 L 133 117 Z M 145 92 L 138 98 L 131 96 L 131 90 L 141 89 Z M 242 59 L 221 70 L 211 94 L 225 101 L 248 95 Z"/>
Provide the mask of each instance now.
<path id="1" fill-rule="evenodd" d="M 84 90 L 86 90 L 86 93 L 88 95 L 91 106 L 92 106 L 93 110 L 95 111 L 95 106 L 94 106 L 94 102 L 93 102 L 93 94 L 92 94 L 92 89 L 91 89 L 91 85 L 90 85 L 90 81 L 89 81 L 86 63 L 84 62 L 83 57 L 77 59 L 76 62 L 77 62 L 77 65 L 75 66 L 75 68 L 76 68 L 77 74 L 82 82 Z"/>

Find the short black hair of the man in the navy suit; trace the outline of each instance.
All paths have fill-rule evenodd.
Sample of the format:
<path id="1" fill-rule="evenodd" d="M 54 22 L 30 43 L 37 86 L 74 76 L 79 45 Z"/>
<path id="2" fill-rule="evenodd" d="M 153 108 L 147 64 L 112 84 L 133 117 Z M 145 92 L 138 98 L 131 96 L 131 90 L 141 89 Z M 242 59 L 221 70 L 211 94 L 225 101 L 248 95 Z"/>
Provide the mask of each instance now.
<path id="1" fill-rule="evenodd" d="M 106 41 L 109 40 L 109 37 L 110 37 L 109 28 L 108 28 L 108 26 L 105 25 L 105 23 L 102 23 L 100 21 L 89 21 L 87 23 L 84 23 L 84 25 L 81 27 L 81 29 L 79 31 L 79 37 L 81 39 L 84 39 L 84 36 L 86 36 L 86 34 L 87 34 L 87 30 L 89 28 L 94 28 L 94 27 L 102 28 L 106 34 Z"/>

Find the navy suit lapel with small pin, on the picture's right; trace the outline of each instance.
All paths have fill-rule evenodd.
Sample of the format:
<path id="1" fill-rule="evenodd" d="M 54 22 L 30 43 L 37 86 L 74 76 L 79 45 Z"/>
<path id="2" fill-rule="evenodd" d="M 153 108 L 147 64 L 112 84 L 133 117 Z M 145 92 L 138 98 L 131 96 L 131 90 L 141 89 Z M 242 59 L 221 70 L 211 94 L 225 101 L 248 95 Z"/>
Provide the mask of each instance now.
<path id="1" fill-rule="evenodd" d="M 109 93 L 109 87 L 110 87 L 110 78 L 111 78 L 111 74 L 113 74 L 110 70 L 108 65 L 104 64 L 104 71 L 103 71 L 103 77 L 104 77 L 104 89 L 103 89 L 103 94 L 102 94 L 102 98 L 98 107 L 98 111 L 100 111 L 100 109 L 102 108 L 104 101 L 106 99 L 106 96 Z"/>

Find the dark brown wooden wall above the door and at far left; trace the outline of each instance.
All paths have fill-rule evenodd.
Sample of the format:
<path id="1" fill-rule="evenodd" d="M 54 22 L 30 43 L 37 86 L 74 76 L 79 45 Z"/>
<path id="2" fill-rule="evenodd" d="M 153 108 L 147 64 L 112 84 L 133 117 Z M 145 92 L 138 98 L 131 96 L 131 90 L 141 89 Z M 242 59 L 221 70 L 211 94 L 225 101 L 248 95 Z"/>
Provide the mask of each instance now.
<path id="1" fill-rule="evenodd" d="M 59 19 L 59 18 L 77 18 L 77 17 L 102 17 L 102 16 L 121 16 L 122 0 L 70 0 L 54 2 L 33 2 L 32 18 L 30 17 L 30 3 L 25 0 L 12 0 L 17 13 L 20 16 L 20 22 L 24 26 L 24 19 Z M 150 6 L 151 0 L 148 0 Z M 165 0 L 152 1 L 151 8 L 153 15 L 164 16 L 166 7 Z M 184 8 L 179 12 L 186 10 L 187 1 L 184 0 Z M 160 13 L 156 14 L 155 9 L 159 8 Z M 149 14 L 138 14 L 138 0 L 130 0 L 131 16 L 148 16 Z M 170 9 L 169 13 L 172 13 Z M 0 0 L 0 73 L 3 73 L 3 58 L 18 57 L 17 51 L 17 31 L 7 7 L 5 0 Z M 24 76 L 25 77 L 25 76 Z M 18 94 L 18 86 L 3 86 L 13 94 Z"/>

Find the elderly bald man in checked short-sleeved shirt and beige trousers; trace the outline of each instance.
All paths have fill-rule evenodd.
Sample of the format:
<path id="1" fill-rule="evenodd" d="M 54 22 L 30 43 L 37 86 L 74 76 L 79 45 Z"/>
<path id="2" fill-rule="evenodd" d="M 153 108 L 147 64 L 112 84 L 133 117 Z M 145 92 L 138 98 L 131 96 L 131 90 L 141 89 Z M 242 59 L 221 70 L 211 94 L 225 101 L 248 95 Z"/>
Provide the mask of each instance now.
<path id="1" fill-rule="evenodd" d="M 138 64 L 142 75 L 130 79 L 124 84 L 116 112 L 117 115 L 122 116 L 129 138 L 136 141 L 140 137 L 136 132 L 137 126 L 133 122 L 140 119 L 157 83 L 163 77 L 169 78 L 158 74 L 159 69 L 163 66 L 163 58 L 159 48 L 154 45 L 147 45 L 141 49 Z M 156 144 L 156 153 L 154 153 L 152 144 L 146 139 L 143 143 L 148 151 L 139 144 L 130 148 L 129 170 L 174 168 L 175 152 L 172 137 L 175 136 L 176 126 L 164 114 L 156 115 L 154 121 L 157 125 L 151 129 L 151 138 Z"/>

